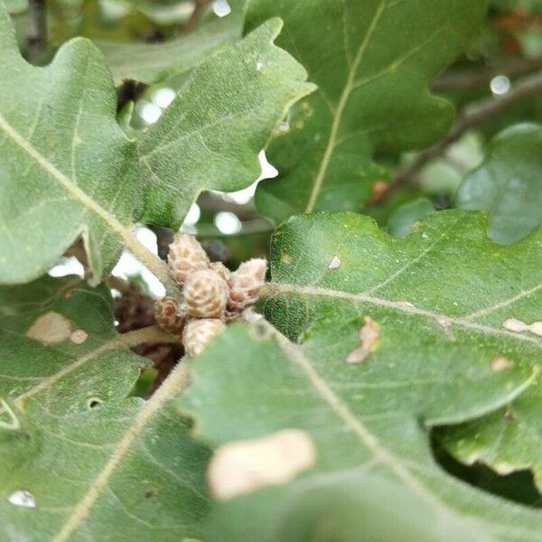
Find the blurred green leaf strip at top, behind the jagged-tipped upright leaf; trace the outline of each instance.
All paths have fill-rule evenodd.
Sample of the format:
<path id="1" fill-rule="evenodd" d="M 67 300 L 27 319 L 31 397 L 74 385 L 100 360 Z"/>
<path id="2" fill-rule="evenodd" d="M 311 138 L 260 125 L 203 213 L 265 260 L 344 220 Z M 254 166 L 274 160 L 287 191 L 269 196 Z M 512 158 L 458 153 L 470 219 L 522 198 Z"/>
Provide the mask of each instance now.
<path id="1" fill-rule="evenodd" d="M 241 17 L 232 15 L 201 26 L 194 33 L 163 43 L 97 42 L 117 82 L 145 83 L 187 73 L 226 45 L 238 41 Z"/>

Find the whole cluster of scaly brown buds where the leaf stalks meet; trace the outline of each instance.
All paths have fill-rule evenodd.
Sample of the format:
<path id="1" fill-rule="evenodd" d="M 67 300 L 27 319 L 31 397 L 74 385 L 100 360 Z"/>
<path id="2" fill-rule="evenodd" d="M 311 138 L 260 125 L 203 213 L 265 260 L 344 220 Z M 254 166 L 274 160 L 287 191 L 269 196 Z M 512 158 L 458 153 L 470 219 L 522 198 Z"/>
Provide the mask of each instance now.
<path id="1" fill-rule="evenodd" d="M 180 232 L 169 247 L 168 266 L 182 301 L 164 297 L 154 305 L 154 316 L 166 332 L 181 336 L 185 352 L 195 357 L 227 322 L 250 316 L 267 262 L 251 259 L 230 272 L 221 262 L 210 262 L 196 238 Z"/>

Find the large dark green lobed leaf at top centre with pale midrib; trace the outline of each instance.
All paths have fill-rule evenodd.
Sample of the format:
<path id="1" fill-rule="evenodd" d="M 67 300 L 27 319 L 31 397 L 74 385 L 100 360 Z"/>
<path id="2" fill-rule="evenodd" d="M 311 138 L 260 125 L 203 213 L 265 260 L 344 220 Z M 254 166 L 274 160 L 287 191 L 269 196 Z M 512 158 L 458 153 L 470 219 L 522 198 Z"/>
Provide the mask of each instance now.
<path id="1" fill-rule="evenodd" d="M 431 79 L 465 50 L 485 0 L 249 0 L 247 28 L 285 22 L 278 43 L 318 92 L 292 108 L 271 143 L 277 179 L 262 182 L 257 207 L 285 220 L 295 212 L 360 210 L 387 176 L 376 152 L 422 148 L 444 135 L 453 107 Z"/>

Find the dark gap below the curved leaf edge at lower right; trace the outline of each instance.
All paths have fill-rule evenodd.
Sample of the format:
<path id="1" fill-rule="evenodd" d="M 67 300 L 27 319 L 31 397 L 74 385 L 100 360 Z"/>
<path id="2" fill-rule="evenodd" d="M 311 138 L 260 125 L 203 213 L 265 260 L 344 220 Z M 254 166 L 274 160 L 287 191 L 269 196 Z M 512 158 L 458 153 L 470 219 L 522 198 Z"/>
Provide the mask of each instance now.
<path id="1" fill-rule="evenodd" d="M 542 494 L 537 490 L 533 473 L 529 470 L 499 474 L 485 463 L 465 465 L 449 453 L 432 433 L 431 447 L 437 463 L 445 472 L 482 491 L 525 506 L 541 509 Z"/>

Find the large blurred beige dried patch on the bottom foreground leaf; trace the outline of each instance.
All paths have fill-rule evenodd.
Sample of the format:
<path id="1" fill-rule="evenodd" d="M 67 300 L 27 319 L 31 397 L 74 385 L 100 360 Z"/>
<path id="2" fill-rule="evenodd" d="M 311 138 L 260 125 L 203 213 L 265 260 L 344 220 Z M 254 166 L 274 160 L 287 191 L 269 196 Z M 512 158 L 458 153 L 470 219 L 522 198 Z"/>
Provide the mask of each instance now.
<path id="1" fill-rule="evenodd" d="M 313 439 L 300 429 L 225 444 L 210 461 L 210 493 L 219 500 L 247 495 L 268 485 L 286 483 L 314 463 Z"/>

